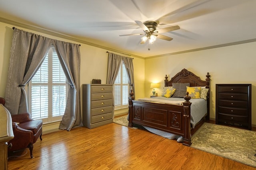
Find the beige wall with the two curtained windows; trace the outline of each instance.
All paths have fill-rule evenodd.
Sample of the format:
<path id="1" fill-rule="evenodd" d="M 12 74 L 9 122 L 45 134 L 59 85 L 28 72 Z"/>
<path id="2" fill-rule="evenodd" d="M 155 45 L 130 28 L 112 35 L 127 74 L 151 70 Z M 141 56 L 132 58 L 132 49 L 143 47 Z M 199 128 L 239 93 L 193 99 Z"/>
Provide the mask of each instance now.
<path id="1" fill-rule="evenodd" d="M 0 39 L 0 97 L 5 96 L 5 88 L 6 88 L 8 66 L 9 66 L 9 59 L 10 59 L 10 49 L 11 49 L 12 34 L 13 34 L 12 27 L 14 26 L 15 25 L 9 25 L 9 24 L 0 22 L 0 37 L 1 37 Z M 80 87 L 82 87 L 82 84 L 90 84 L 92 82 L 92 79 L 94 78 L 101 79 L 102 84 L 106 83 L 107 65 L 108 65 L 108 53 L 106 53 L 107 51 L 106 49 L 101 49 L 98 47 L 93 47 L 93 46 L 82 44 L 79 42 L 55 37 L 52 35 L 47 35 L 45 33 L 40 33 L 30 29 L 24 29 L 22 27 L 17 27 L 17 28 L 23 29 L 24 31 L 36 33 L 45 37 L 49 37 L 52 39 L 58 39 L 61 41 L 81 44 L 80 46 L 80 53 L 81 53 Z M 111 52 L 110 50 L 108 51 Z M 119 55 L 123 55 L 123 54 L 119 54 Z M 144 61 L 145 60 L 136 58 L 133 56 L 127 56 L 127 55 L 123 55 L 123 56 L 134 58 L 133 63 L 134 63 L 134 72 L 135 72 L 135 75 L 134 75 L 135 88 L 140 89 L 136 91 L 136 96 L 138 96 L 139 98 L 143 98 L 144 97 Z M 82 90 L 81 90 L 81 94 L 82 94 Z M 82 100 L 82 95 L 81 95 L 81 100 Z M 124 112 L 124 111 L 122 110 L 119 112 L 115 111 L 115 115 L 121 114 L 120 112 Z M 48 124 L 47 126 L 45 125 L 43 130 L 51 131 L 56 127 L 58 127 L 58 123 L 51 123 L 51 124 Z"/>

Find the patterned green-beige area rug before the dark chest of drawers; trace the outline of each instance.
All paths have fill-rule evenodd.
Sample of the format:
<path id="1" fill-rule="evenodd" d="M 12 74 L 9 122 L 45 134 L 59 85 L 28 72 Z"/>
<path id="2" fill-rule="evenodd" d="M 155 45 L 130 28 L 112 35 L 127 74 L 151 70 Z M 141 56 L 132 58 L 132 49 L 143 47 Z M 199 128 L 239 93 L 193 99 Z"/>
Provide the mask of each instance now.
<path id="1" fill-rule="evenodd" d="M 256 132 L 204 123 L 191 137 L 192 148 L 256 167 Z"/>

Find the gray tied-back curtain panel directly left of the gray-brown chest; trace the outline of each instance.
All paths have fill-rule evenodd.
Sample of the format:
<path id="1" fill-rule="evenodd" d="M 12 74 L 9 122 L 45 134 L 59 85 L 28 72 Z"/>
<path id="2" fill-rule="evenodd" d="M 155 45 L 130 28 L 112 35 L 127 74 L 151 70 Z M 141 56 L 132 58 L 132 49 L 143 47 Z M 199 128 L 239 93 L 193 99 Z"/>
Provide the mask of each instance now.
<path id="1" fill-rule="evenodd" d="M 68 99 L 59 129 L 70 131 L 82 126 L 80 109 L 80 49 L 79 45 L 53 40 L 62 69 L 68 80 Z"/>

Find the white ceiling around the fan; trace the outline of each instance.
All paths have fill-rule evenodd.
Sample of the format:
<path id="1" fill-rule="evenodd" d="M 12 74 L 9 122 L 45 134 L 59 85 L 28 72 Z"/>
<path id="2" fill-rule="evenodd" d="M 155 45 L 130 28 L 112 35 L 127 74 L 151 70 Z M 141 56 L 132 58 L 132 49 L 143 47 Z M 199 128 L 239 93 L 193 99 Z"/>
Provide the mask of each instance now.
<path id="1" fill-rule="evenodd" d="M 256 39 L 256 0 L 0 0 L 0 17 L 141 57 Z M 180 29 L 148 51 L 142 35 L 119 36 L 144 33 L 135 20 Z"/>

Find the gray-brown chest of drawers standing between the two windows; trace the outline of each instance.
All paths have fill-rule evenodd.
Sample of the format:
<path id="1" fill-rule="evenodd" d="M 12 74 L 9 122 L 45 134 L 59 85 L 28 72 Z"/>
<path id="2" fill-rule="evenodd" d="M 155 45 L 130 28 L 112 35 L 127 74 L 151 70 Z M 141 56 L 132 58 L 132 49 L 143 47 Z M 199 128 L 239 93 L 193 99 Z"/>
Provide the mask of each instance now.
<path id="1" fill-rule="evenodd" d="M 113 122 L 113 85 L 83 84 L 83 114 L 84 126 L 92 129 Z"/>

